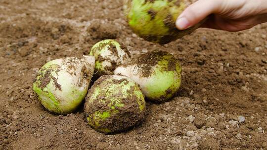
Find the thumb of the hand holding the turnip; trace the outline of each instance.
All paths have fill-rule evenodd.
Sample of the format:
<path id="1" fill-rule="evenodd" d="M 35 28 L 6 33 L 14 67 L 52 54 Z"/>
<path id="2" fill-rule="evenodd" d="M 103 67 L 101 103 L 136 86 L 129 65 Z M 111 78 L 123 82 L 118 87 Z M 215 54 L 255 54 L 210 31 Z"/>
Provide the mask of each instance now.
<path id="1" fill-rule="evenodd" d="M 223 0 L 198 0 L 189 5 L 178 17 L 176 27 L 179 30 L 190 28 L 206 18 L 208 15 L 217 12 Z"/>

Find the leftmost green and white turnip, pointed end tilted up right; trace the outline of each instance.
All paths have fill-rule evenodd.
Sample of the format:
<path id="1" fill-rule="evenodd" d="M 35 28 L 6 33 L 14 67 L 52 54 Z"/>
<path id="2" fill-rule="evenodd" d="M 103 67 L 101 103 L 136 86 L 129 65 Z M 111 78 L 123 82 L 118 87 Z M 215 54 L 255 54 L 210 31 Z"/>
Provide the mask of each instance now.
<path id="1" fill-rule="evenodd" d="M 67 57 L 46 63 L 38 72 L 33 90 L 50 112 L 74 112 L 88 92 L 94 57 Z"/>

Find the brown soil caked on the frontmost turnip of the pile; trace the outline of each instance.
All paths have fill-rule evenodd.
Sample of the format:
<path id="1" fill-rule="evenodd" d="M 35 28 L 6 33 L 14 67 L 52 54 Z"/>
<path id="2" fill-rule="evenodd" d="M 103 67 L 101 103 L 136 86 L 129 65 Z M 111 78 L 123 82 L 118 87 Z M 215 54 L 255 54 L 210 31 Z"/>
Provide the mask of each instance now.
<path id="1" fill-rule="evenodd" d="M 129 81 L 126 78 L 123 79 L 112 79 L 111 81 L 107 81 L 110 79 L 112 75 L 103 75 L 98 78 L 91 89 L 86 98 L 85 103 L 85 113 L 86 116 L 90 118 L 90 120 L 95 120 L 95 113 L 98 112 L 102 114 L 103 112 L 109 112 L 110 116 L 105 119 L 100 119 L 97 121 L 99 126 L 95 125 L 96 129 L 109 129 L 112 133 L 118 133 L 122 131 L 126 131 L 129 128 L 133 128 L 135 125 L 141 123 L 145 116 L 145 107 L 144 110 L 139 110 L 139 105 L 137 103 L 138 97 L 134 94 L 134 86 L 131 86 L 131 89 L 127 91 L 128 96 L 126 98 L 122 98 L 122 95 L 126 93 L 119 92 L 117 95 L 110 93 L 111 91 L 103 91 L 104 87 L 112 86 L 113 84 L 120 84 L 121 88 L 127 85 Z M 136 84 L 135 86 L 138 87 Z M 96 90 L 100 89 L 99 95 L 92 101 L 92 96 L 95 94 Z M 122 90 L 122 89 L 114 89 L 114 90 Z M 112 97 L 116 101 L 111 101 L 106 98 L 106 95 L 111 94 Z M 123 104 L 123 107 L 118 107 L 114 103 Z M 144 104 L 142 104 L 144 105 Z M 111 107 L 114 106 L 114 109 Z M 94 121 L 92 121 L 94 122 Z M 115 123 L 116 122 L 116 123 Z"/>

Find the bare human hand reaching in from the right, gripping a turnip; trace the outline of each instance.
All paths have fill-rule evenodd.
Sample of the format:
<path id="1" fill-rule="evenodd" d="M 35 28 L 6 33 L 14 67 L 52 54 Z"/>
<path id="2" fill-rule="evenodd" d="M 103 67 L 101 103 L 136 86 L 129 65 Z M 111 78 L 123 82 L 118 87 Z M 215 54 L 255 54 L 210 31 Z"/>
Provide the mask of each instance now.
<path id="1" fill-rule="evenodd" d="M 200 27 L 229 32 L 250 29 L 267 22 L 267 0 L 198 0 L 179 15 L 176 26 L 184 30 L 206 17 Z"/>

